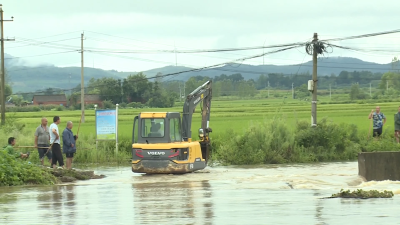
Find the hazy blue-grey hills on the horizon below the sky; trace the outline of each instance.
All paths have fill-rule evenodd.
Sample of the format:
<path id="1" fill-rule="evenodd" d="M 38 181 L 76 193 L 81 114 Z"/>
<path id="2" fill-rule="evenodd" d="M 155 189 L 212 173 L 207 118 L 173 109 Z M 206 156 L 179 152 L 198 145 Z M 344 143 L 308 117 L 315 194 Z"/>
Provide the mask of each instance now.
<path id="1" fill-rule="evenodd" d="M 5 67 L 9 78 L 13 83 L 14 92 L 33 92 L 38 89 L 46 88 L 63 88 L 70 89 L 76 87 L 81 82 L 80 67 L 56 67 L 51 64 L 30 66 L 25 61 L 13 58 L 5 54 Z M 191 70 L 189 67 L 182 66 L 166 66 L 147 71 L 142 71 L 147 77 L 154 77 L 158 73 L 162 75 L 176 73 L 180 71 Z M 373 62 L 365 62 L 356 58 L 348 57 L 329 57 L 318 59 L 318 75 L 326 76 L 332 73 L 338 75 L 341 71 L 362 71 L 369 70 L 372 72 L 384 73 L 391 69 L 391 64 L 378 64 Z M 218 68 L 204 69 L 194 72 L 186 72 L 178 75 L 165 77 L 163 80 L 188 80 L 192 76 L 208 76 L 215 77 L 221 74 L 241 73 L 245 79 L 257 79 L 260 74 L 283 73 L 286 75 L 296 73 L 312 74 L 312 61 L 297 65 L 247 65 L 247 64 L 228 64 Z M 96 68 L 85 67 L 84 78 L 85 84 L 91 78 L 113 77 L 123 79 L 129 74 L 137 74 L 138 72 L 118 72 L 116 70 L 102 70 Z"/>

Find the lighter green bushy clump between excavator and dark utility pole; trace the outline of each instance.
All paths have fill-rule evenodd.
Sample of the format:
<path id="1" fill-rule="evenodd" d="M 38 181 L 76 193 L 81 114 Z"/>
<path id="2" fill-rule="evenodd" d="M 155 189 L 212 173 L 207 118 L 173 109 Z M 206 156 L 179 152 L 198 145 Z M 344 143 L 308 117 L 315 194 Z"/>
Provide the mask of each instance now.
<path id="1" fill-rule="evenodd" d="M 294 133 L 281 117 L 251 124 L 243 133 L 229 130 L 214 159 L 223 164 L 285 163 L 291 161 L 295 144 Z"/>

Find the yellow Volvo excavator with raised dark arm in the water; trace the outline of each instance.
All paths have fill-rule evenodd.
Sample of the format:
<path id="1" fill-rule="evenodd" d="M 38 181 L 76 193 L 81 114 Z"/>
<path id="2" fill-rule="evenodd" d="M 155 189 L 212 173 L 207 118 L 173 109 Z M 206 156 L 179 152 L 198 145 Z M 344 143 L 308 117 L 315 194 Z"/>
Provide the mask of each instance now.
<path id="1" fill-rule="evenodd" d="M 211 148 L 209 133 L 212 132 L 209 128 L 211 84 L 211 80 L 205 82 L 186 97 L 182 120 L 179 112 L 142 112 L 135 117 L 132 132 L 132 172 L 182 174 L 207 166 Z M 192 116 L 201 102 L 200 140 L 192 141 Z"/>

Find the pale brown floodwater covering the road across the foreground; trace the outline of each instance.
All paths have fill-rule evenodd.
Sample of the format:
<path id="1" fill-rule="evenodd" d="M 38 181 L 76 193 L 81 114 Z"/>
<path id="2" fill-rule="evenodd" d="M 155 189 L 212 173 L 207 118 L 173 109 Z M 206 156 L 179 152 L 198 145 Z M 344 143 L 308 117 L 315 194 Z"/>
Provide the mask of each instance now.
<path id="1" fill-rule="evenodd" d="M 0 188 L 0 224 L 400 224 L 400 182 L 364 182 L 357 162 L 207 167 L 185 175 L 92 168 L 101 180 Z M 392 199 L 320 199 L 340 189 Z"/>

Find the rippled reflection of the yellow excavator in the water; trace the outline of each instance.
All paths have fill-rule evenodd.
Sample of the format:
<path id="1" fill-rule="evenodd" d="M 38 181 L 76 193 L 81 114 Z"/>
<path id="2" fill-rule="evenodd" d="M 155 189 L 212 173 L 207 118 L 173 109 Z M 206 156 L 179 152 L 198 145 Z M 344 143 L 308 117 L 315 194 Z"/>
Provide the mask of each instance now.
<path id="1" fill-rule="evenodd" d="M 134 182 L 135 223 L 212 224 L 211 185 L 207 180 Z"/>

